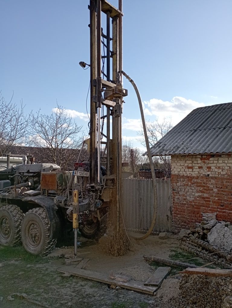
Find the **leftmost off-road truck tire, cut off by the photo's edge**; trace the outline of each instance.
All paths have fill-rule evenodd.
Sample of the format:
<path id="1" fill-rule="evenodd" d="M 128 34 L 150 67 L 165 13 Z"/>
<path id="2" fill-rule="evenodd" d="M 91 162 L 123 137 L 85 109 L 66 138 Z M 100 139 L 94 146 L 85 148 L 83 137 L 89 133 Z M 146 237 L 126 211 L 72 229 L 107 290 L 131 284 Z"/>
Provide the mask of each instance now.
<path id="1" fill-rule="evenodd" d="M 0 245 L 15 246 L 21 243 L 23 213 L 17 205 L 0 208 Z"/>

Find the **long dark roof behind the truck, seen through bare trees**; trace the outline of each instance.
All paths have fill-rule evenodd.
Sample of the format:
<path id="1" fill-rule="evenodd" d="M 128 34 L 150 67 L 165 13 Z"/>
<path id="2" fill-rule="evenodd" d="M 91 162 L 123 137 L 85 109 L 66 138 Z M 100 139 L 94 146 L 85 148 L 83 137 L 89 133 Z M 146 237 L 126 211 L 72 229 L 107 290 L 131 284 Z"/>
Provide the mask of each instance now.
<path id="1" fill-rule="evenodd" d="M 0 149 L 4 148 L 0 145 Z M 74 162 L 76 162 L 80 150 L 78 149 L 63 149 L 63 155 L 62 160 L 67 160 L 67 170 L 72 170 L 74 167 Z M 35 157 L 35 163 L 41 164 L 41 163 L 52 163 L 54 164 L 54 161 L 52 159 L 51 151 L 49 148 L 41 148 L 41 147 L 24 147 L 24 146 L 10 146 L 7 148 L 7 153 L 3 154 L 13 154 L 13 155 L 27 155 L 30 154 Z M 85 158 L 87 155 L 86 151 L 83 151 L 81 160 Z M 59 162 L 57 162 L 59 164 Z"/>

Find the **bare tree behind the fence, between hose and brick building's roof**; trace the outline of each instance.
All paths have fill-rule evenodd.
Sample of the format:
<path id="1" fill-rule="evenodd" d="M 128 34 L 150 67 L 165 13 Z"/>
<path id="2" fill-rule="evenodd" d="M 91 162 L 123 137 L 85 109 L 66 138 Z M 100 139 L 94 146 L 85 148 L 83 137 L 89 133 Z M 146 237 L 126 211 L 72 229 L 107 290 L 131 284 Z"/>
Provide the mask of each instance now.
<path id="1" fill-rule="evenodd" d="M 146 126 L 147 126 L 147 133 L 148 133 L 150 147 L 152 147 L 155 143 L 157 143 L 157 141 L 160 138 L 165 136 L 166 133 L 173 128 L 171 119 L 166 119 L 166 118 L 164 118 L 162 122 L 158 122 L 158 120 L 155 120 L 154 122 L 146 121 Z M 137 132 L 137 134 L 138 136 L 141 136 L 139 138 L 140 143 L 145 146 L 146 144 L 142 127 L 141 130 Z M 160 160 L 160 169 L 165 173 L 165 176 L 167 178 L 170 178 L 171 176 L 170 156 L 158 156 L 158 157 Z"/>

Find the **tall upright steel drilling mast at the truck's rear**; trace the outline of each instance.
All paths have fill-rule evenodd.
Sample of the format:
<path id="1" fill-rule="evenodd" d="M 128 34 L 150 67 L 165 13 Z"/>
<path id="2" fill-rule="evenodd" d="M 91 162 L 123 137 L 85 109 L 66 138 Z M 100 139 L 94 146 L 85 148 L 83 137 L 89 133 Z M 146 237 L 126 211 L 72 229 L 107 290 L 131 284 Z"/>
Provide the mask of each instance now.
<path id="1" fill-rule="evenodd" d="M 91 211 L 80 216 L 80 231 L 89 231 L 91 221 L 102 221 L 109 207 L 115 209 L 116 230 L 120 228 L 120 186 L 121 186 L 121 115 L 123 97 L 127 90 L 122 88 L 122 0 L 119 8 L 106 0 L 90 0 L 90 131 L 87 144 L 88 159 L 84 164 L 77 162 L 74 175 L 82 190 L 83 200 L 89 198 Z M 106 24 L 106 30 L 102 24 Z M 84 62 L 80 62 L 86 65 Z M 106 126 L 104 125 L 106 122 Z M 80 188 L 81 176 L 78 170 L 87 170 L 88 182 Z M 83 183 L 83 180 L 82 180 Z M 79 185 L 79 187 L 78 187 Z M 79 197 L 81 194 L 79 193 Z M 79 198 L 80 213 L 82 200 Z M 76 208 L 76 201 L 74 201 Z M 87 213 L 88 212 L 88 213 Z M 87 214 L 86 214 L 87 213 Z M 88 216 L 86 220 L 86 215 Z M 81 221 L 85 217 L 85 221 Z M 87 221 L 87 222 L 86 222 Z M 78 224 L 75 224 L 75 228 Z"/>

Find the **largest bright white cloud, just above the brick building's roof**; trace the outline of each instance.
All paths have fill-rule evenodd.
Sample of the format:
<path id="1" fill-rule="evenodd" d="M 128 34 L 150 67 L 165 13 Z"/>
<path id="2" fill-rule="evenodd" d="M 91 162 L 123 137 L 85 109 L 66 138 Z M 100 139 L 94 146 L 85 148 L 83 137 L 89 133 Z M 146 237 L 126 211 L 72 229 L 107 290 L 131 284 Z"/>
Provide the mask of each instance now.
<path id="1" fill-rule="evenodd" d="M 198 103 L 181 96 L 174 96 L 170 101 L 153 98 L 143 102 L 145 116 L 154 115 L 158 121 L 171 117 L 172 124 L 174 125 L 180 122 L 193 109 L 204 106 L 204 103 Z"/>

